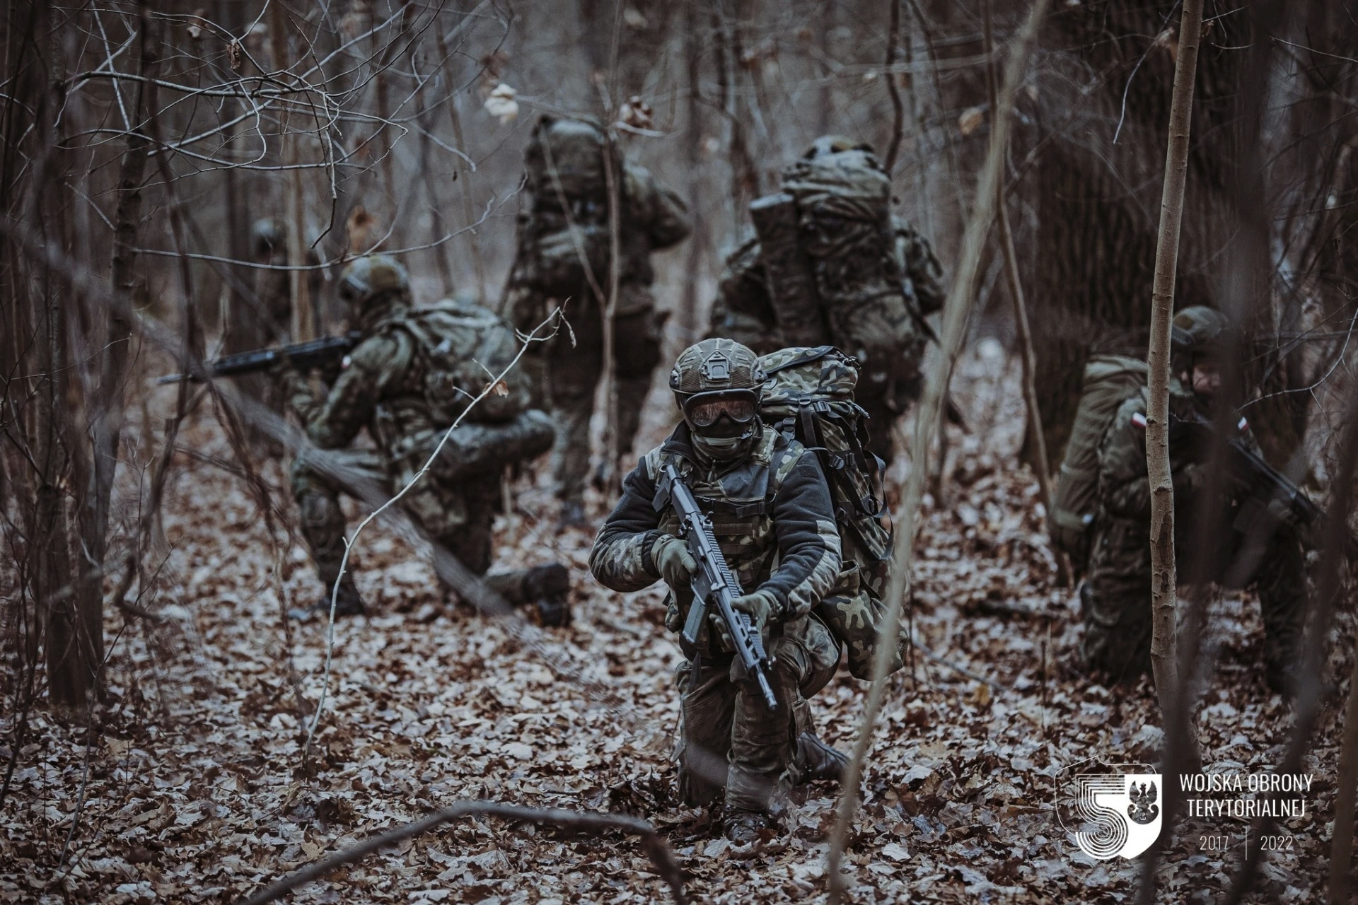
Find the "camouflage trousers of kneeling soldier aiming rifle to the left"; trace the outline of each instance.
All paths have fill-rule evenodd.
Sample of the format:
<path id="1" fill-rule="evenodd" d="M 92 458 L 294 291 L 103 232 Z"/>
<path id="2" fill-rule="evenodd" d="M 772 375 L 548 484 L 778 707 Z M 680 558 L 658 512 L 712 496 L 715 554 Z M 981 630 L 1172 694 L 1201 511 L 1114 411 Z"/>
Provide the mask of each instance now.
<path id="1" fill-rule="evenodd" d="M 386 495 L 395 494 L 413 476 L 410 469 L 392 468 L 387 456 L 376 449 L 331 449 L 325 455 L 342 468 L 345 483 Z M 292 463 L 291 479 L 301 536 L 320 581 L 331 588 L 344 559 L 345 518 L 340 494 L 346 490 L 301 457 Z M 401 498 L 406 513 L 477 575 L 490 569 L 492 524 L 498 503 L 498 478 L 469 479 L 452 488 L 440 486 L 428 474 Z M 352 573 L 352 567 L 348 571 Z M 523 575 L 523 570 L 489 575 L 486 585 L 511 604 L 524 602 Z"/>

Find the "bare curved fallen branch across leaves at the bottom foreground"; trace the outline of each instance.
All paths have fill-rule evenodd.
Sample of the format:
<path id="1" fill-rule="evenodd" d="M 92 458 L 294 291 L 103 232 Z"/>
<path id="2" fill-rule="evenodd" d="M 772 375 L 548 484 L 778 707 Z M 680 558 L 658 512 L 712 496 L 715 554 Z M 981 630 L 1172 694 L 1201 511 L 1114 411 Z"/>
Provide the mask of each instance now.
<path id="1" fill-rule="evenodd" d="M 625 814 L 568 811 L 555 807 L 523 807 L 521 805 L 502 805 L 500 802 L 458 802 L 452 807 L 435 811 L 433 814 L 429 814 L 422 820 L 417 820 L 413 824 L 398 826 L 397 829 L 382 833 L 380 836 L 372 836 L 353 848 L 335 852 L 330 858 L 316 862 L 311 867 L 304 867 L 295 874 L 284 877 L 273 886 L 255 893 L 250 898 L 242 900 L 238 905 L 263 905 L 265 902 L 276 901 L 299 886 L 320 879 L 337 867 L 352 864 L 376 851 L 390 848 L 397 843 L 414 839 L 416 836 L 422 836 L 424 833 L 428 833 L 443 824 L 458 820 L 459 817 L 471 815 L 502 817 L 505 820 L 521 821 L 526 824 L 549 824 L 551 826 L 580 832 L 598 833 L 607 829 L 619 829 L 629 836 L 641 836 L 646 847 L 646 855 L 650 856 L 650 863 L 656 866 L 656 872 L 669 886 L 669 893 L 674 896 L 674 901 L 680 905 L 684 902 L 683 874 L 679 870 L 679 864 L 675 862 L 674 853 L 669 851 L 665 840 L 663 840 L 660 834 L 656 833 L 656 829 L 644 820 L 627 817 Z"/>

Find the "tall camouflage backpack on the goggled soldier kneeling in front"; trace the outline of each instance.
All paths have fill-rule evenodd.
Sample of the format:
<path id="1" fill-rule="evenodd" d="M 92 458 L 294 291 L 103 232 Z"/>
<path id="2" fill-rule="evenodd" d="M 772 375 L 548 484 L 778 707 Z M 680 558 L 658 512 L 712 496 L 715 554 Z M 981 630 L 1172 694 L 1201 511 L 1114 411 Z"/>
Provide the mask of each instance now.
<path id="1" fill-rule="evenodd" d="M 766 425 L 816 453 L 830 484 L 843 564 L 819 615 L 843 642 L 849 672 L 869 678 L 885 616 L 891 522 L 881 463 L 866 450 L 866 412 L 854 402 L 858 365 L 834 346 L 781 349 L 759 358 L 769 381 L 759 403 Z M 900 669 L 898 654 L 891 672 Z"/>

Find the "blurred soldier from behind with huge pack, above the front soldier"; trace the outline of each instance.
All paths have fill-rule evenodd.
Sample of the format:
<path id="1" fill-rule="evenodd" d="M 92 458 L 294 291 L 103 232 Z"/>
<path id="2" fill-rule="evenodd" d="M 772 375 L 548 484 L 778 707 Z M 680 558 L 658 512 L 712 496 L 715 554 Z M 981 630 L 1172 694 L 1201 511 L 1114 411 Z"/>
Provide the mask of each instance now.
<path id="1" fill-rule="evenodd" d="M 891 421 L 918 395 L 923 315 L 942 307 L 933 248 L 891 214 L 872 148 L 839 136 L 818 138 L 750 217 L 755 236 L 727 258 L 709 335 L 759 354 L 831 343 L 857 358 L 870 450 L 889 461 Z"/>

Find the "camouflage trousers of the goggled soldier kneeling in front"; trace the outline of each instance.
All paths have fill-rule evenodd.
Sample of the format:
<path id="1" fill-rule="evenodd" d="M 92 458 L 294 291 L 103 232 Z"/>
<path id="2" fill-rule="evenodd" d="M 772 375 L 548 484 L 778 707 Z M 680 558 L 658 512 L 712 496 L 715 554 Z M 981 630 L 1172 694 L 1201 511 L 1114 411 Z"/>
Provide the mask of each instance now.
<path id="1" fill-rule="evenodd" d="M 766 811 L 775 794 L 801 780 L 797 735 L 815 731 L 807 699 L 834 677 L 839 643 L 824 623 L 805 616 L 784 623 L 769 655 L 774 710 L 731 654 L 699 654 L 679 665 L 679 794 L 686 803 L 710 805 L 725 790 L 728 809 Z"/>

